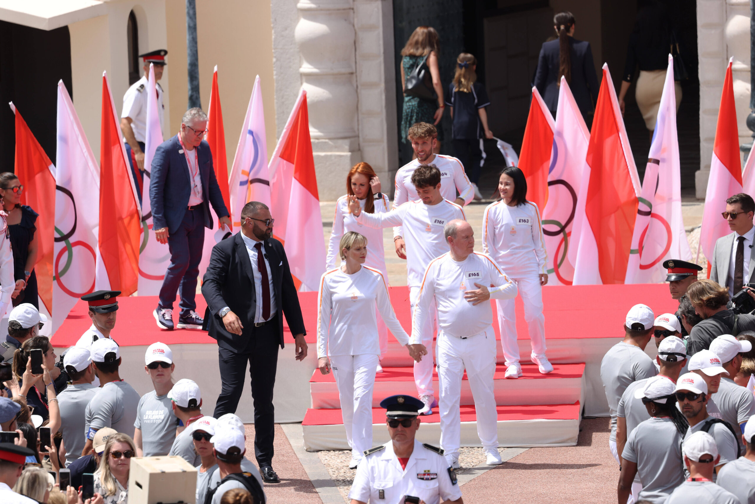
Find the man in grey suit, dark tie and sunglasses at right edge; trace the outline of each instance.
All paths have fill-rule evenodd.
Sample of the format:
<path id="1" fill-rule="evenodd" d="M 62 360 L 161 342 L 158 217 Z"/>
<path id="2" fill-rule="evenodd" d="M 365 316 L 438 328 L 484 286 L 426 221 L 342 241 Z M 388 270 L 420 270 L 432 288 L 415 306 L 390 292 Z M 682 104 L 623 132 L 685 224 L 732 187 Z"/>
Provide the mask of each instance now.
<path id="1" fill-rule="evenodd" d="M 755 282 L 755 255 L 752 253 L 755 227 L 755 202 L 749 194 L 739 193 L 726 199 L 723 218 L 733 231 L 716 240 L 710 280 L 729 289 L 729 296 L 741 291 L 745 283 Z"/>

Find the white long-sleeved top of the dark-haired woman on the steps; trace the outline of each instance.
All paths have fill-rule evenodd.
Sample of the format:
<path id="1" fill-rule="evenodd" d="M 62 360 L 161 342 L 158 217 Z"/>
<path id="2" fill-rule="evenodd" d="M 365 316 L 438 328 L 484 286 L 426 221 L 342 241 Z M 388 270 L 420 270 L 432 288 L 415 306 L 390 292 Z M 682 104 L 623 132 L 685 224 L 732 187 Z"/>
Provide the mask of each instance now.
<path id="1" fill-rule="evenodd" d="M 488 205 L 482 218 L 482 250 L 513 278 L 545 274 L 543 227 L 538 206 L 532 202 Z"/>

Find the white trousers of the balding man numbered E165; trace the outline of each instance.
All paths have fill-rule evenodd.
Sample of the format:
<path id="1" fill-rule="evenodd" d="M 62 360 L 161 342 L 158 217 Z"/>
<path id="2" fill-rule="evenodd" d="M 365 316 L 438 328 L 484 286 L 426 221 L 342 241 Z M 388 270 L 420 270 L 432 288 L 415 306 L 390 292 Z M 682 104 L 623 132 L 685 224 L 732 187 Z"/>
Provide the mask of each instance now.
<path id="1" fill-rule="evenodd" d="M 498 447 L 498 413 L 495 409 L 493 376 L 495 375 L 495 332 L 484 332 L 466 339 L 438 333 L 440 447 L 445 455 L 458 456 L 461 444 L 461 378 L 467 369 L 477 413 L 477 435 L 482 447 Z"/>

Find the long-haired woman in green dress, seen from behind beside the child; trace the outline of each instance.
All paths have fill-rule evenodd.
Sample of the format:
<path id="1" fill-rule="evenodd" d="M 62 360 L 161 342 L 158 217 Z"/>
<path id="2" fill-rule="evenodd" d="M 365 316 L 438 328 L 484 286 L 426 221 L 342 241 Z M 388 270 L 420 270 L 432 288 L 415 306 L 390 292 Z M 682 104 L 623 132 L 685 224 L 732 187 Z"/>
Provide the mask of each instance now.
<path id="1" fill-rule="evenodd" d="M 407 144 L 406 132 L 415 122 L 430 122 L 437 125 L 443 116 L 445 104 L 443 102 L 443 86 L 440 82 L 440 70 L 438 67 L 438 52 L 440 49 L 438 32 L 431 26 L 418 26 L 409 37 L 406 45 L 401 50 L 401 87 L 406 88 L 406 77 L 411 75 L 414 69 L 422 63 L 427 56 L 427 67 L 433 78 L 433 89 L 437 95 L 436 100 L 423 100 L 414 96 L 404 95 L 404 108 L 401 116 L 401 138 Z M 438 144 L 435 153 L 440 151 L 440 142 L 443 139 L 442 129 L 438 128 Z"/>

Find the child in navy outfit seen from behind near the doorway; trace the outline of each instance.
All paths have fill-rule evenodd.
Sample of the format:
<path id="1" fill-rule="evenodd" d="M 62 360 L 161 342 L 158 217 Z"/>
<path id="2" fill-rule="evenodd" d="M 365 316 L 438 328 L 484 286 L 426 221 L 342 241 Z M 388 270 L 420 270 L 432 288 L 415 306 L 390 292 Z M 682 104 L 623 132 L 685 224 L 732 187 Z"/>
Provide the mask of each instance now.
<path id="1" fill-rule="evenodd" d="M 482 199 L 477 188 L 480 164 L 482 163 L 482 138 L 493 138 L 488 128 L 488 114 L 485 107 L 490 105 L 485 86 L 477 81 L 476 58 L 469 53 L 461 53 L 456 59 L 454 82 L 448 86 L 448 99 L 445 104 L 451 107 L 451 138 L 454 153 L 464 165 L 472 186 L 475 199 Z M 484 136 L 483 136 L 484 135 Z"/>

